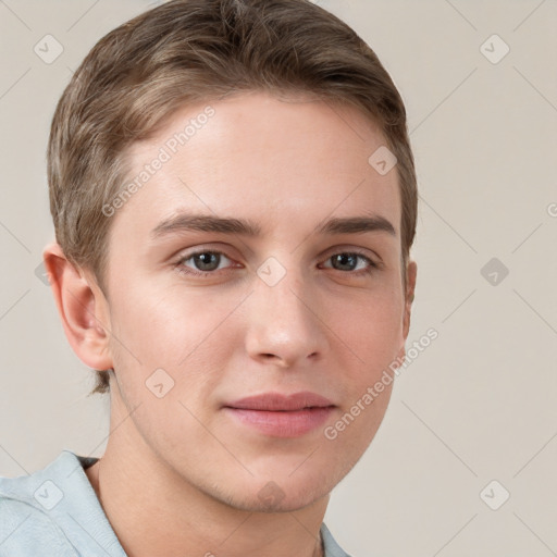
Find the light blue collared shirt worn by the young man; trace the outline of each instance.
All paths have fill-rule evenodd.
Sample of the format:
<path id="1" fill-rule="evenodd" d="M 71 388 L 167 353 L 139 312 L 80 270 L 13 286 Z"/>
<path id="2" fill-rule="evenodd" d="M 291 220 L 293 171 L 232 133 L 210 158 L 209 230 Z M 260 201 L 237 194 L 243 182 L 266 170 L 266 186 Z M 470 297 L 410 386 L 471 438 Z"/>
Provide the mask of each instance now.
<path id="1" fill-rule="evenodd" d="M 0 557 L 126 557 L 85 468 L 64 449 L 42 470 L 0 478 Z M 324 523 L 325 557 L 349 557 Z"/>

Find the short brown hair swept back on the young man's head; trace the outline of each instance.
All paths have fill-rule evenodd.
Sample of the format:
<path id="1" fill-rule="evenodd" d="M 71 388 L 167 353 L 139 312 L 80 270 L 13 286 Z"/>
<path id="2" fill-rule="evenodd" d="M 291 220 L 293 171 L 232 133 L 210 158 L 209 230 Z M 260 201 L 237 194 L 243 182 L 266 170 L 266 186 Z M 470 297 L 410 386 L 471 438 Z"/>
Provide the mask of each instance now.
<path id="1" fill-rule="evenodd" d="M 256 90 L 315 94 L 379 124 L 398 161 L 406 286 L 418 193 L 403 99 L 373 50 L 309 0 L 173 0 L 95 45 L 58 103 L 48 146 L 50 210 L 66 258 L 103 288 L 102 207 L 122 188 L 126 149 L 187 103 Z M 97 370 L 91 394 L 108 391 L 109 371 Z"/>

